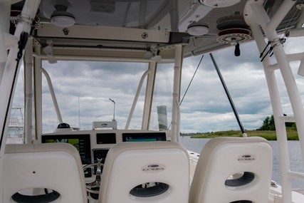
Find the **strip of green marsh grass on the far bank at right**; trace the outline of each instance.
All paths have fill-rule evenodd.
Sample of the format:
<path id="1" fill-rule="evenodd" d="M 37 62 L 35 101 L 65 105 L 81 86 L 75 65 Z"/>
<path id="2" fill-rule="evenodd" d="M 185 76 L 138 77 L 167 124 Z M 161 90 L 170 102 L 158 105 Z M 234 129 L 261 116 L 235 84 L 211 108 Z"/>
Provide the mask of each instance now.
<path id="1" fill-rule="evenodd" d="M 263 131 L 263 130 L 248 130 L 248 137 L 259 136 L 264 137 L 266 140 L 276 140 L 276 131 Z M 209 132 L 202 135 L 194 135 L 192 138 L 213 138 L 213 137 L 242 137 L 241 131 L 239 130 L 228 130 L 228 131 L 218 131 Z M 288 140 L 299 140 L 298 132 L 296 130 L 287 131 Z"/>

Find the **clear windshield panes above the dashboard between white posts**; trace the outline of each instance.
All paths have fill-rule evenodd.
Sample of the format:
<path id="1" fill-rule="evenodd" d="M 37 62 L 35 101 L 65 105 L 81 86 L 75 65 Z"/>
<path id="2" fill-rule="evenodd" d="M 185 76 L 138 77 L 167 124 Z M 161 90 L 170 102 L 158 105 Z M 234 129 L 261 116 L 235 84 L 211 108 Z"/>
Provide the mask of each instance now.
<path id="1" fill-rule="evenodd" d="M 64 123 L 80 130 L 92 130 L 93 121 L 117 120 L 125 129 L 137 87 L 148 63 L 58 61 L 43 62 L 58 101 Z M 155 79 L 150 129 L 158 130 L 157 106 L 172 105 L 172 64 L 160 64 Z M 172 72 L 172 73 L 171 73 Z M 171 76 L 171 77 L 170 77 Z M 140 130 L 147 78 L 142 85 L 129 129 Z M 42 80 L 43 133 L 53 132 L 58 123 L 46 77 Z M 115 105 L 115 106 L 114 106 Z M 114 112 L 115 111 L 115 112 Z M 171 116 L 171 114 L 170 114 Z"/>

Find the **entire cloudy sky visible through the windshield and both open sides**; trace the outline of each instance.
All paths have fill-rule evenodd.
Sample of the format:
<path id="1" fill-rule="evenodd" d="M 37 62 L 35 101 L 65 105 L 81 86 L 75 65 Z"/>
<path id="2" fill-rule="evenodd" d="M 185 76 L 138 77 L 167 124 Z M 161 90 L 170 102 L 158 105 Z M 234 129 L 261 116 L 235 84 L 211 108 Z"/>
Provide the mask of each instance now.
<path id="1" fill-rule="evenodd" d="M 286 53 L 303 51 L 303 38 L 288 38 L 284 44 Z M 302 50 L 302 51 L 301 51 Z M 224 77 L 231 98 L 239 112 L 243 127 L 255 130 L 263 124 L 266 116 L 272 114 L 272 108 L 266 84 L 266 78 L 260 62 L 258 48 L 254 42 L 241 44 L 241 56 L 234 56 L 234 47 L 213 53 L 221 74 Z M 194 75 L 201 56 L 184 59 L 182 70 L 181 97 Z M 304 78 L 298 76 L 299 62 L 290 63 L 298 83 L 298 90 L 304 98 Z M 115 119 L 119 129 L 125 128 L 137 85 L 147 70 L 143 63 L 91 63 L 60 61 L 55 65 L 43 63 L 53 80 L 63 121 L 80 129 L 90 130 L 93 121 L 112 120 L 115 100 Z M 58 71 L 58 68 L 62 72 Z M 172 65 L 159 67 L 162 73 L 156 80 L 155 101 L 152 106 L 151 128 L 157 130 L 157 105 L 167 106 L 168 125 L 171 121 L 172 105 Z M 21 70 L 21 74 L 23 71 Z M 16 87 L 14 107 L 23 108 L 23 78 L 19 76 Z M 283 104 L 283 112 L 292 115 L 283 80 L 276 71 L 278 87 Z M 143 85 L 145 89 L 145 83 Z M 140 117 L 144 92 L 141 91 L 130 128 L 140 129 Z M 58 125 L 51 96 L 43 79 L 43 132 L 52 132 Z M 239 130 L 234 113 L 221 85 L 209 54 L 202 59 L 192 85 L 190 85 L 181 109 L 181 132 L 213 132 L 219 130 Z"/>

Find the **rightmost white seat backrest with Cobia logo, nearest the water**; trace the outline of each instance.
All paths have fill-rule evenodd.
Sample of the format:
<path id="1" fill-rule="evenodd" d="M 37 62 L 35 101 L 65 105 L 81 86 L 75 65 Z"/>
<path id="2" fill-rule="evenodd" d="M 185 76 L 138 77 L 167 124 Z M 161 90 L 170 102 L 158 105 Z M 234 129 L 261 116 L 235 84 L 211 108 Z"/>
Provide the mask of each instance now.
<path id="1" fill-rule="evenodd" d="M 189 203 L 266 203 L 273 163 L 262 137 L 216 137 L 201 150 Z"/>

